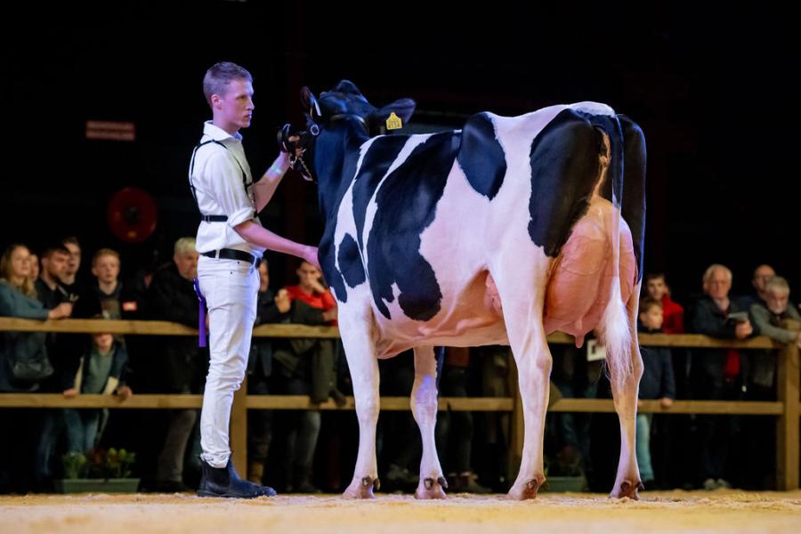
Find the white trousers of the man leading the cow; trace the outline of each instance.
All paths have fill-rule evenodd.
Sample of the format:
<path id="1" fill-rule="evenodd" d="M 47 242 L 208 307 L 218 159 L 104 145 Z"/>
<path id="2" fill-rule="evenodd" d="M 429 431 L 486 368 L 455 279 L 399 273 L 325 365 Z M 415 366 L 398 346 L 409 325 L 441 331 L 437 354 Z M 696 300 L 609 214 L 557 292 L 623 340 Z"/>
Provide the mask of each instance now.
<path id="1" fill-rule="evenodd" d="M 250 353 L 259 272 L 246 262 L 200 256 L 198 281 L 208 306 L 211 356 L 200 413 L 200 457 L 212 467 L 225 467 L 231 457 L 233 393 L 245 379 Z"/>

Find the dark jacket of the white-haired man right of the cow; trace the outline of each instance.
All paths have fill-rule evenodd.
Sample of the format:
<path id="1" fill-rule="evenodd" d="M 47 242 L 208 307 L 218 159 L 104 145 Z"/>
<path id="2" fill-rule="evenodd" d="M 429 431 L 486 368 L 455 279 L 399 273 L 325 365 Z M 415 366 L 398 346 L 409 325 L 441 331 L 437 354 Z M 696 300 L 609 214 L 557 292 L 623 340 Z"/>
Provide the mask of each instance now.
<path id="1" fill-rule="evenodd" d="M 729 299 L 729 313 L 748 312 L 736 298 Z M 736 339 L 734 330 L 737 323 L 729 320 L 709 296 L 701 297 L 692 307 L 691 331 L 720 339 Z M 693 367 L 700 365 L 707 379 L 715 384 L 724 380 L 724 366 L 729 349 L 694 349 Z M 700 361 L 699 361 L 700 360 Z M 748 376 L 748 358 L 740 351 L 740 376 Z"/>

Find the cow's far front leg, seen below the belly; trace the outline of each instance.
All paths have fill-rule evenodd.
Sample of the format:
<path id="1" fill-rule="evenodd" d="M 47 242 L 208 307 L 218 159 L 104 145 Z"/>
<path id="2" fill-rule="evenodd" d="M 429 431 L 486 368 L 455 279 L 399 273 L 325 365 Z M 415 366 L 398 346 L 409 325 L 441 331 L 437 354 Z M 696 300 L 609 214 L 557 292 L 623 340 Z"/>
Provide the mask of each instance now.
<path id="1" fill-rule="evenodd" d="M 411 394 L 412 413 L 423 438 L 420 483 L 415 498 L 445 498 L 448 483 L 442 476 L 440 458 L 434 441 L 437 423 L 437 360 L 433 347 L 415 348 L 415 384 Z"/>

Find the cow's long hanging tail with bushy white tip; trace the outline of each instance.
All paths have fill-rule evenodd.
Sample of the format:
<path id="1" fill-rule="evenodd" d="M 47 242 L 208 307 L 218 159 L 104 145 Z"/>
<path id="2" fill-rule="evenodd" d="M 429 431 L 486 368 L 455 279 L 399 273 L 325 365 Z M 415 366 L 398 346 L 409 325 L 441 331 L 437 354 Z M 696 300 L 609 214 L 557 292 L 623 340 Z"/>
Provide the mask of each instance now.
<path id="1" fill-rule="evenodd" d="M 617 147 L 614 143 L 622 143 L 622 136 L 619 129 L 611 128 L 608 134 L 604 132 L 603 143 L 606 148 L 606 158 L 602 157 L 602 176 L 606 180 L 618 181 L 622 183 L 622 150 L 614 150 Z M 617 165 L 610 165 L 611 158 L 620 158 L 615 162 Z M 603 182 L 603 178 L 601 180 Z M 613 191 L 622 194 L 622 187 L 612 187 Z M 611 206 L 607 206 L 606 228 L 611 231 L 612 249 L 612 277 L 609 287 L 609 301 L 603 312 L 601 324 L 598 327 L 601 343 L 606 349 L 607 375 L 611 383 L 616 387 L 622 387 L 627 378 L 634 374 L 631 360 L 631 340 L 634 333 L 631 331 L 630 321 L 626 303 L 623 302 L 620 288 L 620 198 L 615 198 L 613 192 Z M 602 289 L 603 290 L 603 289 Z"/>

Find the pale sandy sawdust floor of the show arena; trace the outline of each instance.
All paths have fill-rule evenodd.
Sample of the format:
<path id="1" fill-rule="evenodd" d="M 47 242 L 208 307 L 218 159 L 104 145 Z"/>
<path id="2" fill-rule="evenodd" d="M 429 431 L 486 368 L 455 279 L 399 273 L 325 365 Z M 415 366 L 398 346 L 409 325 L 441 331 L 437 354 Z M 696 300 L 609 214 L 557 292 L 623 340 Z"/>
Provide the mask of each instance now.
<path id="1" fill-rule="evenodd" d="M 416 501 L 382 495 L 368 502 L 336 496 L 251 501 L 190 494 L 84 494 L 0 497 L 0 532 L 801 532 L 801 491 L 645 492 L 640 501 L 597 494 L 544 493 L 517 503 L 502 496 Z"/>

